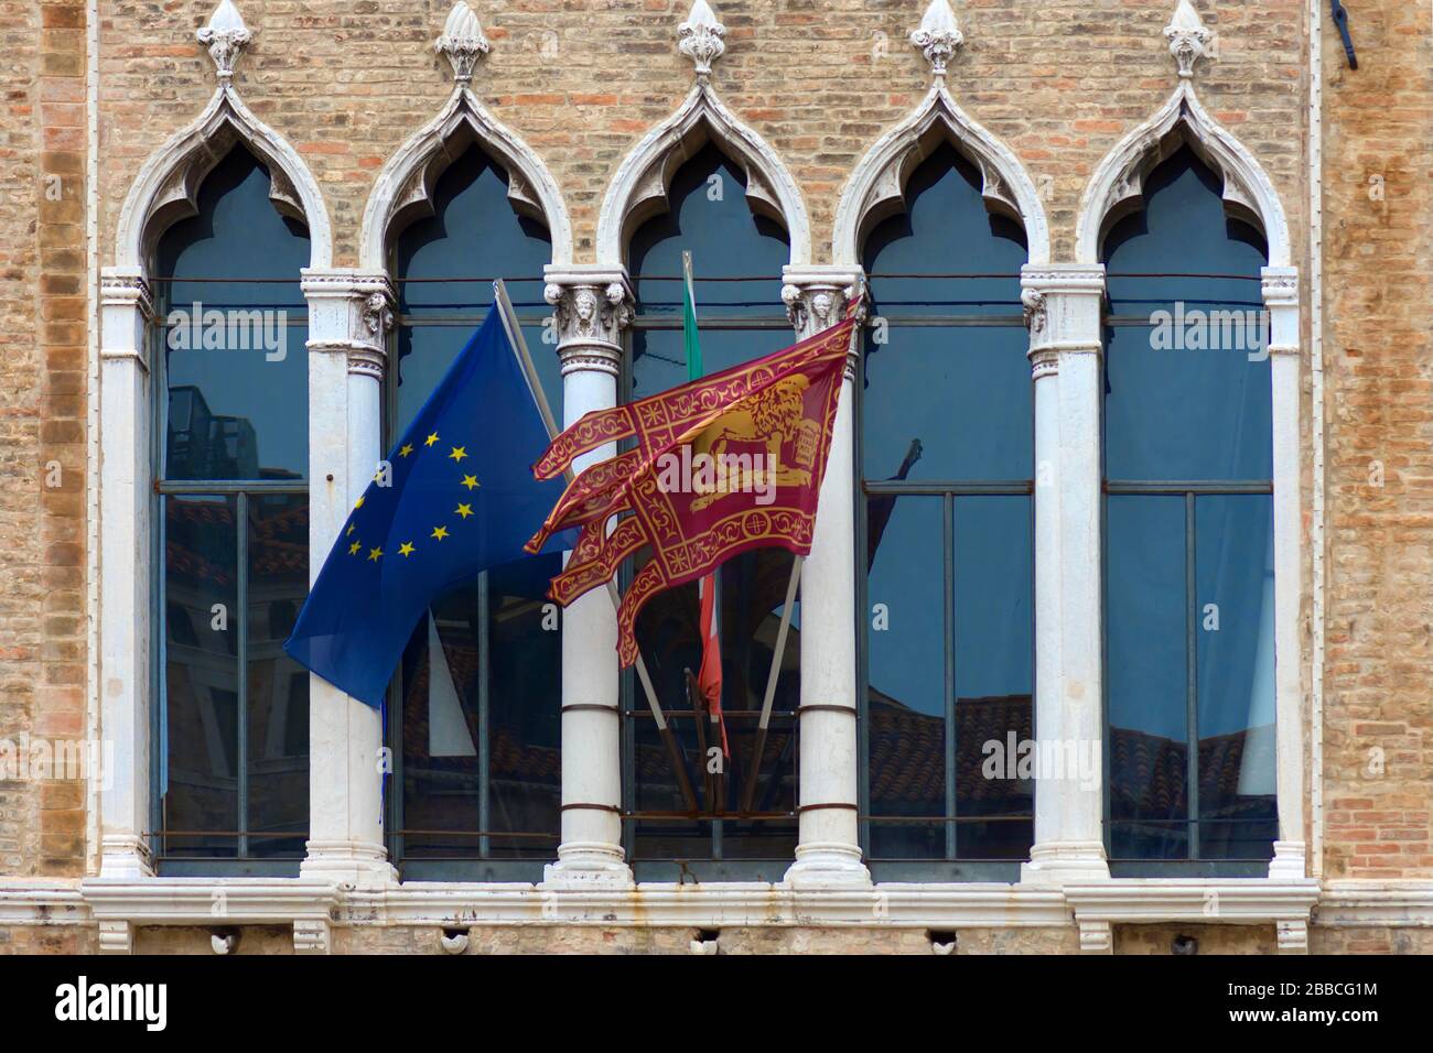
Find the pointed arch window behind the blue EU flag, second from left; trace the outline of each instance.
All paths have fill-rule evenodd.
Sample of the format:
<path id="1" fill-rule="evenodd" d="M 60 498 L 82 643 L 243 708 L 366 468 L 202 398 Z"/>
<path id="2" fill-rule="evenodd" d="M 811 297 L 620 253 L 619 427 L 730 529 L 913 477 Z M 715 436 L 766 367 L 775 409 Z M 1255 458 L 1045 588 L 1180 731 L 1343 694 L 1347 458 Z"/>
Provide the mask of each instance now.
<path id="1" fill-rule="evenodd" d="M 494 278 L 507 285 L 560 420 L 542 279 L 553 244 L 542 212 L 514 198 L 507 168 L 471 135 L 451 138 L 421 179 L 421 206 L 387 231 L 398 298 L 385 448 L 481 324 Z M 490 569 L 440 597 L 416 628 L 387 711 L 390 848 L 406 877 L 535 880 L 552 860 L 562 630 L 545 592 L 560 569 L 560 554 Z"/>

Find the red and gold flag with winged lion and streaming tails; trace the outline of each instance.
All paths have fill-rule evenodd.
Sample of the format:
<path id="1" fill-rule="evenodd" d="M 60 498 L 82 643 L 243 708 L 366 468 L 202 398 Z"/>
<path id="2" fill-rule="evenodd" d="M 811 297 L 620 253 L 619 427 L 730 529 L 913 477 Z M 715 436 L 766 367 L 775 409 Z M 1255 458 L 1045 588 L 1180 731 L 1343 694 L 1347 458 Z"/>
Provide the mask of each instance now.
<path id="1" fill-rule="evenodd" d="M 527 542 L 582 527 L 547 596 L 567 606 L 651 549 L 618 610 L 618 653 L 636 660 L 636 616 L 653 595 L 695 582 L 751 549 L 811 552 L 817 497 L 856 319 L 800 344 L 636 403 L 595 410 L 557 436 L 533 466 L 562 474 L 576 457 L 635 440 L 567 484 Z M 608 523 L 619 517 L 608 533 Z"/>

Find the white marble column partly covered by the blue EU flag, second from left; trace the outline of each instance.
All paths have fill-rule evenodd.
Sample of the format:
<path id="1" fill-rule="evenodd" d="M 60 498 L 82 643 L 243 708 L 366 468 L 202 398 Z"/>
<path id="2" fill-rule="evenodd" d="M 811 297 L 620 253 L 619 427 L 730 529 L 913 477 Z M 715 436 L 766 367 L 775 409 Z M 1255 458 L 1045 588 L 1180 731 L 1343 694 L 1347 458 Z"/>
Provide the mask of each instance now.
<path id="1" fill-rule="evenodd" d="M 308 299 L 310 583 L 383 456 L 393 285 L 384 274 L 304 269 Z M 310 676 L 308 852 L 299 867 L 355 887 L 397 880 L 383 837 L 383 721 Z"/>

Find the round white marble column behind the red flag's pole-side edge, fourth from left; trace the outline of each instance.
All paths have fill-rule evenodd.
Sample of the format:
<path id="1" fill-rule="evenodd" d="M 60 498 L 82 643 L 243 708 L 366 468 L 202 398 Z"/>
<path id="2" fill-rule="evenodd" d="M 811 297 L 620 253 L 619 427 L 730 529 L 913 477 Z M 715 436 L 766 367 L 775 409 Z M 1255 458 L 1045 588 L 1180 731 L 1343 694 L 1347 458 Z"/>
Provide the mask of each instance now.
<path id="1" fill-rule="evenodd" d="M 841 319 L 864 275 L 850 266 L 787 266 L 781 298 L 797 337 Z M 856 734 L 856 428 L 860 338 L 841 381 L 815 536 L 801 572 L 801 708 L 797 860 L 792 887 L 870 885 L 858 834 L 860 744 Z"/>

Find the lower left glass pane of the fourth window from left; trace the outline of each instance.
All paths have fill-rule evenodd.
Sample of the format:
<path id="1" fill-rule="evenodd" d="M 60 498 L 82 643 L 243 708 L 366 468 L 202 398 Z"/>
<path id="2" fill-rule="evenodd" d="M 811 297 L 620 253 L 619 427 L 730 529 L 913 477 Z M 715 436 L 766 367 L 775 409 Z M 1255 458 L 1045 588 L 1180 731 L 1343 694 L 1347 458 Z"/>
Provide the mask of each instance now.
<path id="1" fill-rule="evenodd" d="M 870 497 L 870 814 L 946 815 L 944 511 L 940 497 Z M 871 822 L 871 855 L 944 858 L 946 824 Z"/>

